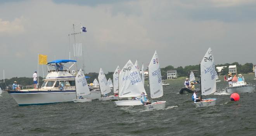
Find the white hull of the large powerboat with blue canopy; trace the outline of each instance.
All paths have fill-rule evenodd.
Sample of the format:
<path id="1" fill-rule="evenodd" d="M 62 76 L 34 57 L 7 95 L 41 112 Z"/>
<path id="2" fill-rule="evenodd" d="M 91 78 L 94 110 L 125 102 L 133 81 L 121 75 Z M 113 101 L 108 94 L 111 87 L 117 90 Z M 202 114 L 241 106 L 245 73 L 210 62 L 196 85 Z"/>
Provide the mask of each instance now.
<path id="1" fill-rule="evenodd" d="M 8 91 L 10 96 L 19 104 L 43 105 L 58 102 L 72 102 L 76 98 L 75 91 Z"/>

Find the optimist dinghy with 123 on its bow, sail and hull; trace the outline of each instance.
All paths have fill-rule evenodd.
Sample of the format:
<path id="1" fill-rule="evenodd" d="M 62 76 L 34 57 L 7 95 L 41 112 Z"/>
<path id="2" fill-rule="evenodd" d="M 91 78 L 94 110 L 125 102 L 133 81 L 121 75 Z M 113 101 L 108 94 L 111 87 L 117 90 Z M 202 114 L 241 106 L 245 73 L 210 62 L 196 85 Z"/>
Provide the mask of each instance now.
<path id="1" fill-rule="evenodd" d="M 208 49 L 200 64 L 200 87 L 201 98 L 216 92 L 216 71 L 211 48 Z M 209 107 L 216 105 L 216 99 L 203 99 L 201 102 L 194 102 L 195 107 Z"/>

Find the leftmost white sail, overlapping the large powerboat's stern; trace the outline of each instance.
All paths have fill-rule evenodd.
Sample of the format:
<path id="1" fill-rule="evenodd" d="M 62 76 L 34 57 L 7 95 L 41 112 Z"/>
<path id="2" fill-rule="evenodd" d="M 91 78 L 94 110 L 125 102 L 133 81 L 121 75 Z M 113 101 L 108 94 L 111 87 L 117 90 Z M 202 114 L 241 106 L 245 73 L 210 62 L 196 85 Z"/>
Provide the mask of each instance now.
<path id="1" fill-rule="evenodd" d="M 80 69 L 78 74 L 76 75 L 75 81 L 76 81 L 77 96 L 85 96 L 90 94 L 88 83 L 86 81 L 85 74 L 83 74 L 82 69 Z"/>

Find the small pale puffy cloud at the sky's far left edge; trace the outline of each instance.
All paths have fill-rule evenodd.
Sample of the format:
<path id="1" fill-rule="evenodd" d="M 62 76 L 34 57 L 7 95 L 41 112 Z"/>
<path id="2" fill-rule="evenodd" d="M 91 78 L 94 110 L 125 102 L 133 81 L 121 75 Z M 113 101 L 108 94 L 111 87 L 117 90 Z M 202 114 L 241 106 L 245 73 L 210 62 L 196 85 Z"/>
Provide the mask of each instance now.
<path id="1" fill-rule="evenodd" d="M 0 18 L 0 34 L 22 34 L 25 31 L 22 22 L 24 22 L 23 17 L 15 18 L 13 21 L 5 21 Z"/>

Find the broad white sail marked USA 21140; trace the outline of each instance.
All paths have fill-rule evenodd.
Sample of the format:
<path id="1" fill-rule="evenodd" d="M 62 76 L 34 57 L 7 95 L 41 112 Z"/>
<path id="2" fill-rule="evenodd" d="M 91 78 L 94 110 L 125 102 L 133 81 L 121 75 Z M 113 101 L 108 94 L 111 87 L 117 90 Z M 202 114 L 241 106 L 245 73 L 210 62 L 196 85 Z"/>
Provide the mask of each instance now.
<path id="1" fill-rule="evenodd" d="M 147 95 L 140 74 L 129 60 L 119 73 L 119 97 L 140 96 L 142 92 Z"/>

